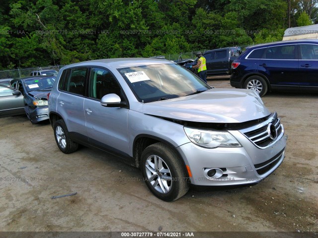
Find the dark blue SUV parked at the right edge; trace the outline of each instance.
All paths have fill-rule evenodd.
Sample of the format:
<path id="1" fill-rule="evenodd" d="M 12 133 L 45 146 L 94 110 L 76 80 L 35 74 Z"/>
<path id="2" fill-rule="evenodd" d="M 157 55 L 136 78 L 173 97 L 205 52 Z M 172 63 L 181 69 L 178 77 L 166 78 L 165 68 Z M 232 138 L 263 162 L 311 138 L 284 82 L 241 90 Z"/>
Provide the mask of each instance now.
<path id="1" fill-rule="evenodd" d="M 318 91 L 318 40 L 248 47 L 232 62 L 231 86 L 268 91 Z"/>

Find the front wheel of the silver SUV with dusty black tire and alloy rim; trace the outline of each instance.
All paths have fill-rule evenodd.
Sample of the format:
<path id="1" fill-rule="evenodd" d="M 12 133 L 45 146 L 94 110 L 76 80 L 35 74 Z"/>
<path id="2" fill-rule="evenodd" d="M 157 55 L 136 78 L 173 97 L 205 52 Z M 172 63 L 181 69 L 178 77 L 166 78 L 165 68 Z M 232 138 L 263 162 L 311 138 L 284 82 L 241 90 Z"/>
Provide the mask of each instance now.
<path id="1" fill-rule="evenodd" d="M 177 153 L 159 142 L 141 156 L 141 169 L 151 192 L 163 201 L 174 201 L 189 190 L 185 166 Z"/>

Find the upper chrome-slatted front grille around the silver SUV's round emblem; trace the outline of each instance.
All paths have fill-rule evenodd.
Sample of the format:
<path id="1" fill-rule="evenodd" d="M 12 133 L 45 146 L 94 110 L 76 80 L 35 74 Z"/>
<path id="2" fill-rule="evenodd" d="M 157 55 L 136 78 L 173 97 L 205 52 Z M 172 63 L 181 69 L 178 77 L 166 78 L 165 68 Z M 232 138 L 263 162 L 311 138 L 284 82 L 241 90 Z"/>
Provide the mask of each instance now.
<path id="1" fill-rule="evenodd" d="M 283 131 L 282 124 L 280 123 L 280 119 L 277 118 L 277 114 L 273 114 L 273 117 L 271 117 L 269 120 L 266 120 L 265 122 L 255 125 L 253 127 L 244 129 L 242 132 L 243 134 L 250 139 L 255 145 L 257 145 L 260 148 L 264 148 L 269 146 L 271 143 L 275 141 L 275 139 L 271 138 L 271 135 L 268 133 L 268 125 L 269 123 L 272 123 L 277 132 L 277 137 L 279 137 Z"/>

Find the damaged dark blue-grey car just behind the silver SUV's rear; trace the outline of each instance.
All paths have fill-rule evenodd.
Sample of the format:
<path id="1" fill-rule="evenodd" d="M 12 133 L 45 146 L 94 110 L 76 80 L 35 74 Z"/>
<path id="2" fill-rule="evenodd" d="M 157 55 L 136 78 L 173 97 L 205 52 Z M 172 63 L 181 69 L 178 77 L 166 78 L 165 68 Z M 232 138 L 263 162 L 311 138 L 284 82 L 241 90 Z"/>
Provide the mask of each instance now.
<path id="1" fill-rule="evenodd" d="M 47 95 L 52 90 L 56 76 L 29 76 L 11 80 L 24 99 L 24 111 L 32 124 L 49 119 Z"/>

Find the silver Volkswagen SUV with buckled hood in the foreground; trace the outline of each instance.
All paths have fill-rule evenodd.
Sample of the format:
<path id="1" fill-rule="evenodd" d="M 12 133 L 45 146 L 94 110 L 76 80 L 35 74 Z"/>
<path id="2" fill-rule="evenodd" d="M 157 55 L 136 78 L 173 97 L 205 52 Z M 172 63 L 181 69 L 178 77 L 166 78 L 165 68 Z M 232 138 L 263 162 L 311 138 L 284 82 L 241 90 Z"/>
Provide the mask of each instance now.
<path id="1" fill-rule="evenodd" d="M 276 113 L 245 89 L 215 89 L 176 63 L 108 59 L 63 67 L 49 95 L 64 153 L 82 144 L 140 167 L 164 201 L 194 185 L 257 183 L 283 162 Z"/>

